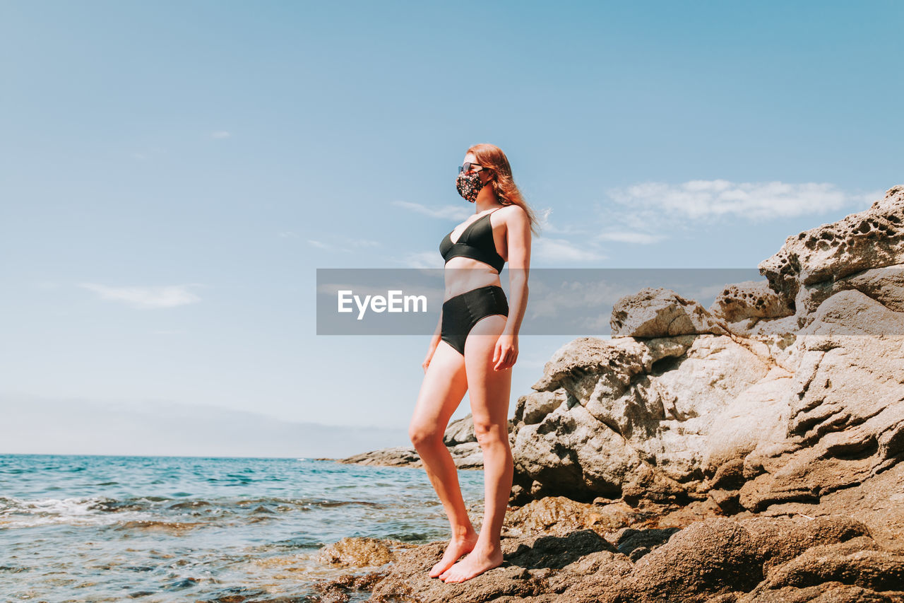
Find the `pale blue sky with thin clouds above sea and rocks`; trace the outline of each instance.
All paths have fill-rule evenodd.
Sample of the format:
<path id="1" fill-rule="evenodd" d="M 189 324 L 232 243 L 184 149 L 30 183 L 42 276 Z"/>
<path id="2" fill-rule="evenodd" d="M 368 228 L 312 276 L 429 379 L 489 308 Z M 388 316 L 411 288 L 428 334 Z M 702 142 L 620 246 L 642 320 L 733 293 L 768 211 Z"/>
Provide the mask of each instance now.
<path id="1" fill-rule="evenodd" d="M 902 23 L 891 1 L 0 3 L 0 453 L 269 455 L 272 421 L 408 445 L 428 336 L 315 336 L 316 268 L 441 266 L 476 142 L 544 217 L 534 267 L 755 267 L 904 182 Z M 512 409 L 570 339 L 521 338 Z M 259 427 L 224 448 L 165 438 L 171 415 Z"/>

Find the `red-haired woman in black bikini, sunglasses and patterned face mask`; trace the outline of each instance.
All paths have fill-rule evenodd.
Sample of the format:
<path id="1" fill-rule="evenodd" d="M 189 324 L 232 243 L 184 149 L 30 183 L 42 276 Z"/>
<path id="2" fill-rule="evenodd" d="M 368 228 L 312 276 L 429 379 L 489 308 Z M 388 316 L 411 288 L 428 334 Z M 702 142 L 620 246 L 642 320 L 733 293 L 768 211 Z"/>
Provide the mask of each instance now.
<path id="1" fill-rule="evenodd" d="M 508 158 L 494 145 L 467 149 L 456 187 L 476 205 L 476 212 L 439 245 L 446 261 L 445 301 L 422 365 L 424 381 L 409 427 L 452 527 L 446 552 L 429 572 L 444 582 L 463 582 L 503 562 L 500 535 L 513 477 L 508 440 L 511 368 L 518 358 L 536 224 L 514 184 Z M 499 280 L 505 262 L 511 311 Z M 479 535 L 467 516 L 456 466 L 443 443 L 449 418 L 466 391 L 484 453 L 485 512 Z"/>

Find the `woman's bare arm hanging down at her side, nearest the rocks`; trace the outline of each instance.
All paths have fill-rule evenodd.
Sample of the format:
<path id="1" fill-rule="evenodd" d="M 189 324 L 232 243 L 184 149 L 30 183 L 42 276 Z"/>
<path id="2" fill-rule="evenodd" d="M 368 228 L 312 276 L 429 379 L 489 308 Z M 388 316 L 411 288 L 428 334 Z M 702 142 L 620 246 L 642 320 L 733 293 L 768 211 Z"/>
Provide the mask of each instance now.
<path id="1" fill-rule="evenodd" d="M 527 276 L 531 268 L 531 221 L 519 207 L 507 216 L 506 244 L 508 246 L 509 287 L 512 300 L 505 329 L 496 341 L 493 361 L 495 370 L 512 367 L 518 359 L 518 330 L 527 309 Z"/>

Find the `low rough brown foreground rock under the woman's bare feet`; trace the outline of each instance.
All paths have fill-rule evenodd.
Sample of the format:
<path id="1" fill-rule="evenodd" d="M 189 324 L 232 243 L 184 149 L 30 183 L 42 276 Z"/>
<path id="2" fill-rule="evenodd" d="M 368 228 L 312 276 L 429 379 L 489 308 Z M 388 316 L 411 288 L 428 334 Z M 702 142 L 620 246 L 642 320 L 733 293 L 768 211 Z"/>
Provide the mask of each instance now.
<path id="1" fill-rule="evenodd" d="M 726 603 L 862 596 L 900 601 L 892 589 L 904 569 L 904 555 L 882 549 L 862 523 L 846 517 L 715 518 L 683 530 L 624 528 L 613 534 L 613 542 L 586 529 L 504 537 L 503 565 L 448 584 L 428 577 L 446 544 L 402 550 L 386 571 L 359 578 L 372 590 L 368 600 Z M 349 582 L 348 577 L 335 581 L 334 591 L 344 594 Z M 329 583 L 320 589 L 329 592 Z"/>

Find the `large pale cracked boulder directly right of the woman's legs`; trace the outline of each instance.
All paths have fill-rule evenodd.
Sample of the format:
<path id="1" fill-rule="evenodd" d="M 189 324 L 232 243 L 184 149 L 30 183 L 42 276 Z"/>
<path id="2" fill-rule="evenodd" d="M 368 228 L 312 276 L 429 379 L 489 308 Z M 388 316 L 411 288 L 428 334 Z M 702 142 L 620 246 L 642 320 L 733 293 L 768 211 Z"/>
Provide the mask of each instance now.
<path id="1" fill-rule="evenodd" d="M 570 342 L 533 386 L 557 401 L 535 407 L 552 410 L 513 426 L 512 502 L 702 495 L 703 451 L 711 429 L 722 427 L 713 420 L 768 373 L 764 359 L 728 336 Z"/>

